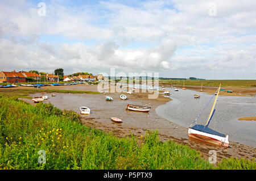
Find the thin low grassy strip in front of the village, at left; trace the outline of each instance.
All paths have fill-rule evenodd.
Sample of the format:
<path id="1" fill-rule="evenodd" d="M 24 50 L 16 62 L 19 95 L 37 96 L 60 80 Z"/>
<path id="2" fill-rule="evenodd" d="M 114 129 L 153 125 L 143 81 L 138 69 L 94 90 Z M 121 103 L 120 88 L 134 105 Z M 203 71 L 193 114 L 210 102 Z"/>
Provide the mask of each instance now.
<path id="1" fill-rule="evenodd" d="M 71 93 L 71 94 L 101 94 L 100 92 L 94 91 L 76 91 L 76 90 L 51 90 L 51 89 L 0 89 L 0 95 L 6 95 L 9 97 L 16 98 L 31 98 L 30 94 L 34 94 L 36 92 L 47 92 L 47 93 Z"/>

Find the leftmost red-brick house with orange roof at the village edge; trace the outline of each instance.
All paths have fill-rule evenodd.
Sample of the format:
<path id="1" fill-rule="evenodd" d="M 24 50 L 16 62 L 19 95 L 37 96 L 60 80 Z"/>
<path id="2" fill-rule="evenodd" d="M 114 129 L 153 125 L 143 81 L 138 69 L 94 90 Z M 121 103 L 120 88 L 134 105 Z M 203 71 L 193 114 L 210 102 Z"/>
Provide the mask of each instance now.
<path id="1" fill-rule="evenodd" d="M 26 77 L 20 72 L 14 71 L 1 71 L 0 72 L 0 82 L 7 83 L 24 83 L 26 82 Z"/>

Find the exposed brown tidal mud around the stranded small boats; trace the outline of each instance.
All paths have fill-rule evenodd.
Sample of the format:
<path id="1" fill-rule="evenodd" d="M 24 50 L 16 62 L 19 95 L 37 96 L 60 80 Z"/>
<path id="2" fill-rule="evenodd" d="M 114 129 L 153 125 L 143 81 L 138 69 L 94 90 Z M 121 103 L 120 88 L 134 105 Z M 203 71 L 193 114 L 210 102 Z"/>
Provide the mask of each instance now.
<path id="1" fill-rule="evenodd" d="M 117 86 L 118 87 L 118 86 Z M 35 89 L 33 87 L 25 87 L 26 89 Z M 214 88 L 214 87 L 213 87 Z M 209 92 L 214 89 L 209 88 Z M 24 89 L 23 87 L 16 87 L 14 89 Z M 78 86 L 49 86 L 44 87 L 44 89 L 56 89 L 56 90 L 81 90 L 81 91 L 97 91 L 96 85 L 78 85 Z M 188 87 L 187 87 L 188 89 Z M 196 90 L 197 88 L 191 87 L 191 89 Z M 201 86 L 199 87 L 199 90 Z M 206 89 L 205 89 L 206 90 Z M 228 89 L 225 89 L 228 90 Z M 234 89 L 232 89 L 234 90 Z M 243 89 L 241 89 L 243 90 Z M 126 92 L 126 91 L 125 91 Z M 253 92 L 251 90 L 251 92 Z M 88 125 L 93 128 L 101 129 L 104 132 L 110 132 L 118 137 L 123 137 L 133 133 L 135 136 L 140 137 L 144 136 L 147 129 L 155 130 L 158 129 L 159 137 L 162 141 L 174 140 L 179 144 L 188 145 L 193 149 L 199 150 L 201 155 L 208 159 L 210 157 L 209 151 L 217 151 L 217 161 L 220 162 L 222 158 L 253 158 L 256 157 L 256 149 L 240 144 L 238 142 L 230 142 L 229 148 L 223 148 L 220 146 L 205 144 L 205 142 L 199 142 L 196 140 L 191 140 L 188 138 L 188 128 L 181 127 L 175 123 L 172 123 L 162 117 L 158 116 L 155 113 L 155 109 L 171 99 L 166 98 L 162 95 L 159 95 L 157 99 L 148 99 L 148 93 L 144 92 L 134 92 L 129 95 L 126 94 L 129 99 L 121 100 L 119 95 L 121 93 L 113 92 L 107 93 L 107 95 L 112 96 L 114 101 L 109 104 L 108 101 L 105 101 L 104 94 L 79 94 L 79 96 L 84 96 L 85 99 L 90 100 L 91 109 L 94 112 L 90 116 L 82 116 L 83 122 L 85 125 Z M 232 94 L 232 93 L 231 93 Z M 39 94 L 35 94 L 39 95 Z M 72 105 L 63 104 L 63 94 L 56 93 L 56 97 L 50 98 L 51 103 L 56 107 L 61 109 L 72 109 Z M 49 94 L 50 96 L 50 94 Z M 70 96 L 74 96 L 70 94 Z M 24 99 L 27 102 L 32 103 L 32 100 Z M 104 100 L 102 102 L 102 100 Z M 68 100 L 67 100 L 68 101 Z M 147 113 L 126 111 L 124 106 L 128 103 L 134 104 L 148 104 L 150 103 L 151 111 Z M 34 104 L 34 103 L 32 103 Z M 120 106 L 122 105 L 122 106 Z M 93 107 L 95 106 L 95 107 Z M 114 110 L 112 109 L 114 108 Z M 75 110 L 77 111 L 77 110 Z M 113 116 L 114 115 L 114 116 Z M 115 116 L 117 115 L 117 116 Z M 125 121 L 123 123 L 113 123 L 110 121 L 110 117 L 119 117 Z"/>

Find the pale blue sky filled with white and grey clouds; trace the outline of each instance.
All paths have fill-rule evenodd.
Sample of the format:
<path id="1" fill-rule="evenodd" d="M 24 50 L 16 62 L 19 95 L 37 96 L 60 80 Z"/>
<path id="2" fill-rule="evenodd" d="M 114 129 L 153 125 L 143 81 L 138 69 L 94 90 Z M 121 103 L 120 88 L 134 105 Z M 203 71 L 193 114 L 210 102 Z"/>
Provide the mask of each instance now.
<path id="1" fill-rule="evenodd" d="M 255 0 L 1 1 L 0 71 L 256 79 L 255 8 Z"/>

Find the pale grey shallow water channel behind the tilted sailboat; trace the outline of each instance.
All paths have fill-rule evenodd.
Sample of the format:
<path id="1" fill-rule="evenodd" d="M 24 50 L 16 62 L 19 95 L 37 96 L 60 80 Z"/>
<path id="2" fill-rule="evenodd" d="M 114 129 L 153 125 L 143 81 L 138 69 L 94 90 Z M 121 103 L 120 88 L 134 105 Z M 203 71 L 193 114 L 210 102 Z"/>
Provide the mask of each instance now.
<path id="1" fill-rule="evenodd" d="M 171 91 L 172 101 L 156 108 L 156 113 L 165 119 L 188 128 L 193 120 L 199 115 L 212 95 L 206 92 L 197 92 L 193 90 Z M 199 94 L 199 99 L 193 98 L 194 94 Z M 197 124 L 205 124 L 214 98 L 205 108 Z M 240 117 L 255 116 L 256 97 L 255 96 L 218 96 L 215 106 L 215 113 L 210 121 L 209 128 L 220 133 L 228 134 L 230 141 L 241 142 L 246 145 L 256 147 L 256 121 L 241 121 Z"/>

